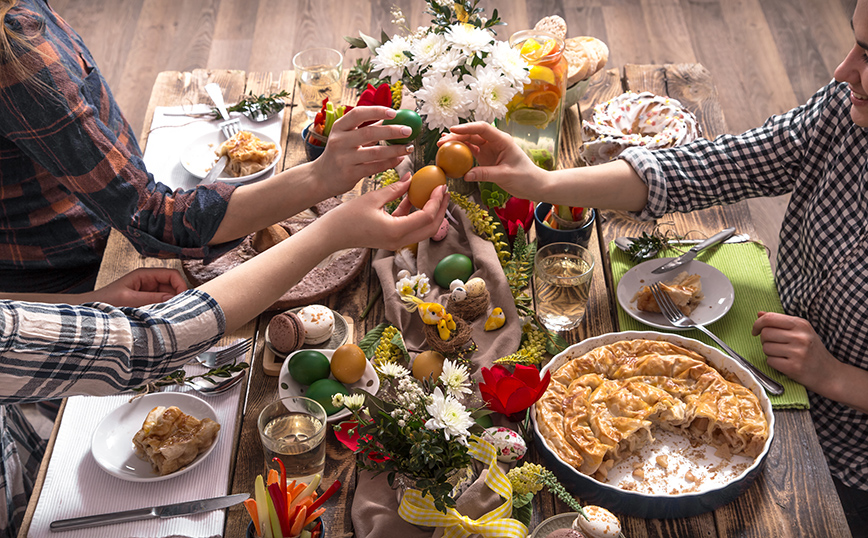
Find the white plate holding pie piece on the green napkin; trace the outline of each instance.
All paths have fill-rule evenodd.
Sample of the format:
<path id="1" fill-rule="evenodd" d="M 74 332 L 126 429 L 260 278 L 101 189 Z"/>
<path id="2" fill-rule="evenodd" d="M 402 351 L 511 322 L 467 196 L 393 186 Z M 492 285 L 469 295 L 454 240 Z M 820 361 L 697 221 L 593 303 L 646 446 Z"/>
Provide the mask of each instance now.
<path id="1" fill-rule="evenodd" d="M 651 273 L 654 269 L 673 259 L 655 258 L 648 260 L 630 269 L 621 277 L 621 280 L 618 282 L 618 303 L 621 304 L 621 308 L 630 317 L 657 329 L 668 331 L 686 330 L 673 326 L 663 314 L 644 312 L 636 307 L 635 302 L 631 302 L 636 292 L 642 286 L 648 286 L 654 282 L 672 280 L 682 271 L 687 271 L 691 275 L 699 275 L 699 280 L 702 283 L 702 294 L 705 296 L 699 303 L 699 306 L 696 307 L 696 310 L 690 314 L 690 318 L 693 321 L 701 325 L 708 325 L 719 320 L 724 314 L 729 312 L 729 309 L 732 308 L 732 302 L 735 300 L 735 290 L 732 288 L 732 282 L 726 278 L 726 275 L 707 263 L 693 260 L 674 271 L 669 271 L 662 275 Z"/>

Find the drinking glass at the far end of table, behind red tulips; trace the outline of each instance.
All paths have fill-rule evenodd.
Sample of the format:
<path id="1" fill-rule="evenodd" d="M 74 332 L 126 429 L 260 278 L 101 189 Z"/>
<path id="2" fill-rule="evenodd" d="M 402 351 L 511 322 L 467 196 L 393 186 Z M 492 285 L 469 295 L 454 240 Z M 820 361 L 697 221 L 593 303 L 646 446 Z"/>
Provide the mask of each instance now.
<path id="1" fill-rule="evenodd" d="M 316 116 L 326 97 L 334 106 L 341 104 L 343 61 L 340 52 L 329 48 L 303 50 L 292 58 L 301 104 L 308 118 Z"/>

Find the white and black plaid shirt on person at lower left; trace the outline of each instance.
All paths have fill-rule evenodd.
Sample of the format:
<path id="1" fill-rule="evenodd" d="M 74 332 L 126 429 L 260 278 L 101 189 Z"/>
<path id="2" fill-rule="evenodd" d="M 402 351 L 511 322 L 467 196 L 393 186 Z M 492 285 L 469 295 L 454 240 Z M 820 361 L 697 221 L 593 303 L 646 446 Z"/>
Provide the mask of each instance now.
<path id="1" fill-rule="evenodd" d="M 0 537 L 17 533 L 45 451 L 14 404 L 143 385 L 225 328 L 220 306 L 198 290 L 144 308 L 0 301 Z"/>

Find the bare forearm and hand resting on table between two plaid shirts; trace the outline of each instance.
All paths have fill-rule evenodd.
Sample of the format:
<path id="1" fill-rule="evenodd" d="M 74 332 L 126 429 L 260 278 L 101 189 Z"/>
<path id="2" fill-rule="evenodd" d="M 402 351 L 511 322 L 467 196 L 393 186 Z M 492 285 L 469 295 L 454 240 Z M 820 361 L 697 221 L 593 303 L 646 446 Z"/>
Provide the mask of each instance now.
<path id="1" fill-rule="evenodd" d="M 181 274 L 174 269 L 140 267 L 111 284 L 87 293 L 0 293 L 0 300 L 49 304 L 108 303 L 139 307 L 168 301 L 187 289 Z"/>

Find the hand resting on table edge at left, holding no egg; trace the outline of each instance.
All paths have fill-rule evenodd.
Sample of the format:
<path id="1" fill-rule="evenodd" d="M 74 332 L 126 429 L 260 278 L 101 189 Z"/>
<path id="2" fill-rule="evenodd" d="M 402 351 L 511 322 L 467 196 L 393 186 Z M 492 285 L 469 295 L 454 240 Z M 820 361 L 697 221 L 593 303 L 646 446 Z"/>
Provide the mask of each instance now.
<path id="1" fill-rule="evenodd" d="M 186 289 L 181 273 L 174 269 L 140 267 L 107 286 L 84 294 L 84 298 L 113 306 L 139 307 L 168 301 Z"/>

